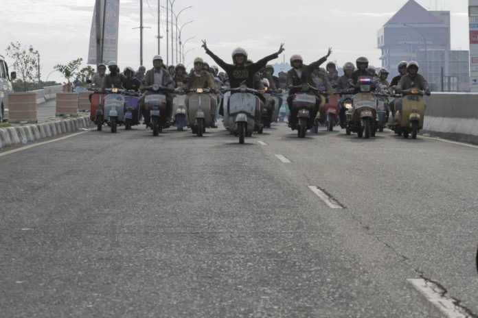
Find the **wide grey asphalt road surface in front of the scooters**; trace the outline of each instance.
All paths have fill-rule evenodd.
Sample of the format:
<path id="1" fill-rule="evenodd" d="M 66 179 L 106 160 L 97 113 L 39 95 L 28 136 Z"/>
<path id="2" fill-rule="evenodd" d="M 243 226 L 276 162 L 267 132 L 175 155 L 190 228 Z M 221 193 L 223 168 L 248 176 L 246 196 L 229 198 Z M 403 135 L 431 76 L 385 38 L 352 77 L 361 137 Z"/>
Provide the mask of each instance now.
<path id="1" fill-rule="evenodd" d="M 0 152 L 1 317 L 477 317 L 478 148 L 118 131 Z"/>

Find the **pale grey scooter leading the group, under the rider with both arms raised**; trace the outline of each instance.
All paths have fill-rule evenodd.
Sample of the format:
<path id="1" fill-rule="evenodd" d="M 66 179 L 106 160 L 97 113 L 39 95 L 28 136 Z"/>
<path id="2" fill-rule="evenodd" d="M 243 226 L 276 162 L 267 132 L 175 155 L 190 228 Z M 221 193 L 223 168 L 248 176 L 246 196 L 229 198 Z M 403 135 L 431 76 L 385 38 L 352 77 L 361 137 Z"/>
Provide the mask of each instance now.
<path id="1" fill-rule="evenodd" d="M 223 91 L 231 92 L 228 103 L 224 104 L 224 119 L 227 119 L 224 125 L 229 127 L 231 134 L 239 136 L 239 143 L 243 144 L 244 138 L 252 136 L 257 125 L 260 125 L 259 96 L 262 91 L 248 88 L 245 84 Z"/>

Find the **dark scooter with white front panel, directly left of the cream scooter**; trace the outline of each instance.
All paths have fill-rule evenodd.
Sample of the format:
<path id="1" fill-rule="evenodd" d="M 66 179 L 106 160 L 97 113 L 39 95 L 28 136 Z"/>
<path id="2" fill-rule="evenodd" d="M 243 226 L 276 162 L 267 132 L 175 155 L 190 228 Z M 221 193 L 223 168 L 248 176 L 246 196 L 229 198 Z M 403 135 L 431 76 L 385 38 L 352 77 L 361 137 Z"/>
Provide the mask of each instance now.
<path id="1" fill-rule="evenodd" d="M 152 135 L 157 136 L 163 132 L 163 128 L 167 127 L 166 93 L 174 89 L 153 84 L 144 87 L 143 90 L 148 92 L 144 97 L 145 121 L 150 122 Z"/>

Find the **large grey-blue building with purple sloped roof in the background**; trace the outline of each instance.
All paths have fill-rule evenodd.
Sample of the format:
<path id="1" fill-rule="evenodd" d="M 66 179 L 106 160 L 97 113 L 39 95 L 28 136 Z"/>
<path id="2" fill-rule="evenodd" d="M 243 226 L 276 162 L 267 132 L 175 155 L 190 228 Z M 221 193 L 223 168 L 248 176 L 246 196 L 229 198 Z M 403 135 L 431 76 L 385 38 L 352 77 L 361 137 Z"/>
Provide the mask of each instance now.
<path id="1" fill-rule="evenodd" d="M 468 51 L 451 50 L 449 11 L 428 11 L 409 0 L 378 31 L 382 66 L 391 76 L 397 64 L 416 60 L 433 91 L 469 90 Z"/>

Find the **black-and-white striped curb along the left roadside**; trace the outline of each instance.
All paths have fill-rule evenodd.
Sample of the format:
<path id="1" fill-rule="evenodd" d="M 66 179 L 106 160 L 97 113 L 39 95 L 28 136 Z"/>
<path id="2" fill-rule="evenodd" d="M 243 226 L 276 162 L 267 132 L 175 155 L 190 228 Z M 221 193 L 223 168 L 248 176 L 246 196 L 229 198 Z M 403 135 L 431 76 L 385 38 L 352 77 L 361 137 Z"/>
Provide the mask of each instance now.
<path id="1" fill-rule="evenodd" d="M 0 128 L 0 149 L 91 127 L 89 117 L 49 121 L 33 125 Z"/>

